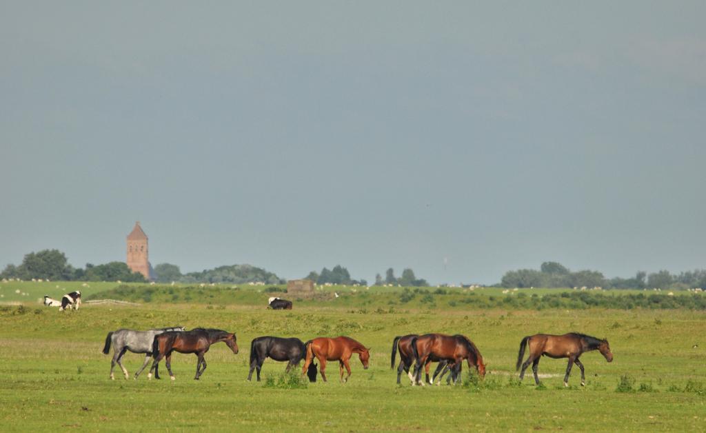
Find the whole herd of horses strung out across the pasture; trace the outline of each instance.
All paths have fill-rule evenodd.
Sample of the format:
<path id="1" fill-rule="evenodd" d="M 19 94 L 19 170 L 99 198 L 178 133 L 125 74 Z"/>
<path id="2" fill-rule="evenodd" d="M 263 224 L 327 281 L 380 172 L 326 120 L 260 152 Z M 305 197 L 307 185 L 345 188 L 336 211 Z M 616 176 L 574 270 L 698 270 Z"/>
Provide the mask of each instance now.
<path id="1" fill-rule="evenodd" d="M 169 377 L 174 380 L 172 373 L 172 353 L 193 353 L 198 357 L 196 363 L 196 376 L 198 380 L 206 369 L 204 355 L 211 345 L 215 343 L 225 343 L 234 354 L 238 353 L 238 345 L 235 333 L 222 331 L 213 328 L 194 328 L 190 331 L 182 326 L 170 328 L 155 328 L 149 331 L 134 331 L 131 329 L 119 329 L 109 332 L 105 338 L 103 353 L 108 354 L 110 347 L 114 348 L 114 355 L 110 365 L 110 379 L 115 379 L 113 369 L 119 365 L 125 379 L 129 374 L 121 363 L 126 352 L 145 354 L 142 367 L 135 373 L 137 379 L 140 373 L 147 367 L 150 359 L 152 366 L 148 373 L 148 378 L 152 378 L 152 373 L 156 379 L 160 379 L 159 364 L 165 360 Z M 529 357 L 525 362 L 522 359 L 525 350 L 529 349 Z M 608 340 L 594 338 L 582 333 L 567 333 L 561 336 L 549 334 L 535 334 L 522 338 L 520 351 L 517 354 L 516 370 L 520 370 L 520 380 L 525 376 L 525 370 L 532 364 L 534 381 L 539 384 L 537 367 L 542 356 L 551 358 L 568 358 L 564 385 L 568 386 L 568 378 L 573 364 L 577 364 L 581 369 L 581 385 L 585 386 L 585 372 L 579 357 L 584 352 L 598 350 L 606 359 L 611 362 L 611 353 Z M 397 384 L 400 384 L 402 372 L 407 372 L 412 385 L 434 384 L 437 377 L 437 384 L 447 373 L 450 373 L 447 382 L 457 383 L 460 380 L 462 363 L 465 361 L 469 369 L 475 369 L 479 376 L 486 374 L 486 364 L 483 362 L 481 352 L 476 345 L 466 336 L 460 334 L 449 336 L 441 333 L 428 333 L 424 335 L 409 334 L 407 336 L 396 336 L 393 339 L 393 348 L 390 359 L 390 367 L 395 368 L 395 357 L 400 353 L 400 364 L 397 366 Z M 301 375 L 306 374 L 309 381 L 316 381 L 317 364 L 321 378 L 326 381 L 327 362 L 339 363 L 340 381 L 346 382 L 351 376 L 350 359 L 353 355 L 358 358 L 367 369 L 370 365 L 370 348 L 359 343 L 353 338 L 340 336 L 336 338 L 319 337 L 313 340 L 303 341 L 299 338 L 281 338 L 273 336 L 263 336 L 252 340 L 250 344 L 250 372 L 248 380 L 252 379 L 253 372 L 257 372 L 257 380 L 260 381 L 260 372 L 266 358 L 275 361 L 287 362 L 285 372 L 289 372 L 292 367 L 297 367 L 304 360 L 304 367 Z M 431 379 L 429 378 L 429 366 L 431 362 L 438 362 L 436 371 Z M 425 370 L 425 381 L 421 381 L 421 371 Z M 344 370 L 347 375 L 344 377 Z"/>

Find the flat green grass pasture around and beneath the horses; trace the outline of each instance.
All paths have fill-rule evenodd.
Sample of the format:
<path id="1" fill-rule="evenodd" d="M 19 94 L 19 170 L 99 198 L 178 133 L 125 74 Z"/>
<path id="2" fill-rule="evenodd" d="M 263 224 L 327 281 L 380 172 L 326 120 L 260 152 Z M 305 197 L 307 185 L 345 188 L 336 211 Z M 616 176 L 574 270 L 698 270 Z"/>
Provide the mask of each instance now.
<path id="1" fill-rule="evenodd" d="M 23 284 L 20 292 L 31 293 L 24 306 L 0 307 L 4 431 L 706 429 L 702 311 L 464 309 L 438 299 L 424 303 L 421 296 L 392 305 L 399 293 L 357 297 L 346 292 L 337 299 L 297 302 L 292 311 L 275 312 L 261 302 L 270 296 L 258 291 L 264 287 L 244 287 L 237 294 L 241 301 L 234 303 L 225 302 L 220 292 L 213 298 L 206 292 L 203 302 L 170 303 L 161 297 L 173 295 L 158 292 L 140 307 L 84 304 L 78 312 L 60 313 L 36 302 L 48 286 Z M 81 283 L 41 284 L 63 290 Z M 89 284 L 95 292 L 80 289 L 87 297 L 101 297 L 99 288 L 116 286 Z M 15 290 L 9 283 L 0 284 L 0 293 Z M 101 352 L 108 331 L 172 325 L 234 331 L 240 352 L 233 355 L 225 345 L 215 345 L 206 355 L 208 369 L 201 381 L 192 379 L 196 357 L 181 354 L 172 359 L 174 382 L 148 381 L 145 375 L 126 381 L 120 374 L 120 379 L 109 380 L 110 356 Z M 486 379 L 412 387 L 403 376 L 402 386 L 397 386 L 390 369 L 393 337 L 431 331 L 463 333 L 474 340 L 487 364 Z M 575 369 L 571 386 L 564 388 L 566 361 L 543 358 L 543 386 L 534 386 L 531 374 L 517 384 L 514 366 L 522 337 L 567 331 L 609 338 L 614 362 L 605 362 L 598 352 L 585 354 L 587 386 L 579 386 L 580 372 Z M 287 388 L 287 381 L 280 379 L 285 365 L 268 360 L 263 375 L 270 381 L 248 382 L 250 340 L 263 335 L 302 340 L 351 336 L 371 347 L 371 368 L 364 370 L 354 358 L 347 384 L 340 384 L 337 365 L 330 364 L 328 383 Z M 124 364 L 133 374 L 142 359 L 128 353 Z M 628 392 L 616 391 L 621 377 Z"/>

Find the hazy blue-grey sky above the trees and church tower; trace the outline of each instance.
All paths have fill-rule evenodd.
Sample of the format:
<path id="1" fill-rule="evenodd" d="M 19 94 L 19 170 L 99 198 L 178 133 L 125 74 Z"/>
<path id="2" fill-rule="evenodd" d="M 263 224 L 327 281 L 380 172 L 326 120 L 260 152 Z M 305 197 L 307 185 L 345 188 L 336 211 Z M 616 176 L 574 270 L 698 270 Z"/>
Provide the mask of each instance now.
<path id="1" fill-rule="evenodd" d="M 0 266 L 706 268 L 703 1 L 2 1 Z"/>

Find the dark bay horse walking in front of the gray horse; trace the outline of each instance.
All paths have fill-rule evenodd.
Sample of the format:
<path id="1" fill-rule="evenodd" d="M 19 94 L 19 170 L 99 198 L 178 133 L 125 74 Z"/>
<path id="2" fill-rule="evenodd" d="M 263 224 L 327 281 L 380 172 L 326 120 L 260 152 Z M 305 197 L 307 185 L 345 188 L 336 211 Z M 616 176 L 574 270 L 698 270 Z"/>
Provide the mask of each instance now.
<path id="1" fill-rule="evenodd" d="M 155 357 L 155 360 L 152 362 L 150 373 L 147 375 L 148 379 L 152 379 L 152 370 L 157 369 L 157 365 L 162 358 L 167 360 L 169 378 L 175 379 L 172 373 L 172 352 L 176 350 L 179 353 L 196 354 L 198 362 L 196 362 L 196 376 L 193 379 L 198 380 L 206 369 L 206 360 L 203 359 L 203 355 L 208 352 L 212 344 L 219 341 L 226 343 L 234 354 L 238 353 L 235 334 L 221 331 L 220 329 L 194 328 L 191 331 L 165 332 L 155 336 L 155 340 L 152 343 L 152 356 Z"/>

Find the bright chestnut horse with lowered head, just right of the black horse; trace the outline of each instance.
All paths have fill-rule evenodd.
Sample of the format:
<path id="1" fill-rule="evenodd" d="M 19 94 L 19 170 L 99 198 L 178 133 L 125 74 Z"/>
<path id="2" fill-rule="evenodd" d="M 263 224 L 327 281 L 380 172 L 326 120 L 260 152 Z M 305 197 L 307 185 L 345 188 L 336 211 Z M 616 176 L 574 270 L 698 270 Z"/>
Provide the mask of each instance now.
<path id="1" fill-rule="evenodd" d="M 301 369 L 301 375 L 304 376 L 309 369 L 309 364 L 314 357 L 318 358 L 319 371 L 323 381 L 326 381 L 326 361 L 338 361 L 341 374 L 341 381 L 345 383 L 351 376 L 351 366 L 349 360 L 354 353 L 358 354 L 360 362 L 363 363 L 363 368 L 368 369 L 370 360 L 369 349 L 361 343 L 349 337 L 325 338 L 319 337 L 309 340 L 306 343 L 306 362 L 304 368 Z M 348 376 L 343 379 L 343 367 L 346 368 Z"/>

